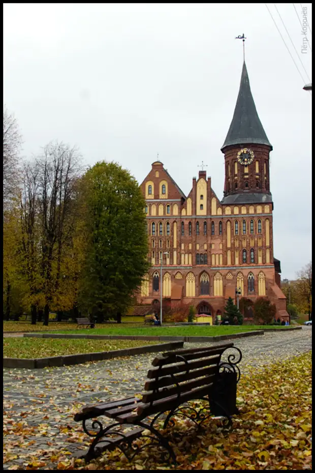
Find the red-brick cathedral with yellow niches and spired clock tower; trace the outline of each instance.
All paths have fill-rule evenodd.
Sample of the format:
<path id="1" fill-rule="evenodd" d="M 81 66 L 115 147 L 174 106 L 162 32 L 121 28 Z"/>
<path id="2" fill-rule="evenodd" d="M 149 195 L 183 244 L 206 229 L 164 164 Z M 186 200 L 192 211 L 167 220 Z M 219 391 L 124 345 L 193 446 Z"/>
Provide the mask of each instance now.
<path id="1" fill-rule="evenodd" d="M 162 258 L 163 297 L 171 304 L 194 305 L 213 317 L 224 313 L 229 297 L 255 302 L 266 297 L 276 305 L 276 317 L 289 319 L 280 289 L 280 261 L 273 256 L 273 202 L 269 180 L 272 151 L 259 119 L 243 64 L 239 94 L 225 142 L 223 198 L 211 188 L 211 178 L 199 171 L 186 196 L 160 161 L 141 184 L 146 199 L 151 268 L 138 303 L 160 299 Z M 250 310 L 245 316 L 250 316 Z"/>

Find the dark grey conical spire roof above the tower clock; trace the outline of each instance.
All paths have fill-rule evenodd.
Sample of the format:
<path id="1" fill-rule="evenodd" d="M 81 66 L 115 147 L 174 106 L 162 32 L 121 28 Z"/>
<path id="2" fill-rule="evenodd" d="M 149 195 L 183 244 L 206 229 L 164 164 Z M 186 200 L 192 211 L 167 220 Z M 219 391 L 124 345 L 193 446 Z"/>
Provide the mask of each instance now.
<path id="1" fill-rule="evenodd" d="M 272 146 L 259 120 L 253 96 L 251 95 L 244 62 L 233 119 L 221 151 L 225 146 L 247 143 L 267 144 L 272 150 Z"/>

